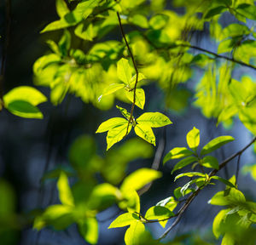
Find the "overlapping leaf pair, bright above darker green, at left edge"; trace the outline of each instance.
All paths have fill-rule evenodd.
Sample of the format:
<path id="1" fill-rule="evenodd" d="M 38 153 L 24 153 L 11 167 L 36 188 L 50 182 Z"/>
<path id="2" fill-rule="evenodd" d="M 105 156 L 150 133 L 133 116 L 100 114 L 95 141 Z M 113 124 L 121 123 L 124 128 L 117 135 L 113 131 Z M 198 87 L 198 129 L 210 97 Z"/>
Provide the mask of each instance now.
<path id="1" fill-rule="evenodd" d="M 47 98 L 36 88 L 20 86 L 3 96 L 4 107 L 19 117 L 43 118 L 36 105 L 47 101 Z"/>

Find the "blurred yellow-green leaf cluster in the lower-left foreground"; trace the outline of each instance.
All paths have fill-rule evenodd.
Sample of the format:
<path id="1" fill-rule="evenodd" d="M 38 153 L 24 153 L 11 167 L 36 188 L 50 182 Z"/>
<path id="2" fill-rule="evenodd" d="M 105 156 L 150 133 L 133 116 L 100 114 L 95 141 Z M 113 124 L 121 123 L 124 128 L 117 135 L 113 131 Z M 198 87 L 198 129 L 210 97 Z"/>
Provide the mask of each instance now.
<path id="1" fill-rule="evenodd" d="M 55 230 L 63 230 L 76 223 L 79 232 L 86 242 L 96 244 L 98 239 L 98 222 L 96 214 L 116 202 L 119 208 L 129 212 L 140 211 L 140 199 L 137 191 L 161 173 L 149 168 L 140 168 L 128 175 L 119 188 L 104 183 L 96 185 L 83 200 L 74 196 L 75 189 L 69 187 L 67 174 L 61 172 L 57 181 L 61 204 L 49 206 L 34 219 L 33 228 L 38 231 L 44 226 L 52 226 Z M 134 243 L 133 243 L 134 244 Z"/>

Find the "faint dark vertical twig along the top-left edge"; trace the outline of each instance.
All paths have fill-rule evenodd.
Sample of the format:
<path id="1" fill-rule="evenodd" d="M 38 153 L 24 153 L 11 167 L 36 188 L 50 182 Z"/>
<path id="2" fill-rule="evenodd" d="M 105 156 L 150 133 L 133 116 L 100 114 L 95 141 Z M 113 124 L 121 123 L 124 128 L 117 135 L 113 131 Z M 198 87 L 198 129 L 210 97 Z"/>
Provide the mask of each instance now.
<path id="1" fill-rule="evenodd" d="M 5 37 L 2 47 L 2 60 L 0 71 L 0 111 L 3 108 L 3 82 L 5 79 L 6 60 L 9 48 L 10 26 L 11 26 L 11 0 L 5 0 Z"/>

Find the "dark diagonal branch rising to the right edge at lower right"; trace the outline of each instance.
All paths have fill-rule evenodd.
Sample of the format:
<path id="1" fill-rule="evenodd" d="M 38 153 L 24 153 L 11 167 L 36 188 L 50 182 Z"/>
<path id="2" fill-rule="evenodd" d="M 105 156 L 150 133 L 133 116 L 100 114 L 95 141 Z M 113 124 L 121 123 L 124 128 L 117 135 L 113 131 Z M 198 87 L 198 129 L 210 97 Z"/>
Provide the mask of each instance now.
<path id="1" fill-rule="evenodd" d="M 209 177 L 212 177 L 213 175 L 217 174 L 218 171 L 222 168 L 224 168 L 228 162 L 230 162 L 231 160 L 233 160 L 235 157 L 237 156 L 241 156 L 241 154 L 247 150 L 247 148 L 250 146 L 250 145 L 253 145 L 253 143 L 256 141 L 256 137 L 253 138 L 253 140 L 251 142 L 249 142 L 244 148 L 241 149 L 241 151 L 237 151 L 235 154 L 233 154 L 232 156 L 228 157 L 227 159 L 224 160 L 224 162 L 222 162 L 220 165 L 219 165 L 219 168 L 218 169 L 214 169 L 212 170 L 212 172 L 210 172 Z M 179 209 L 179 211 L 177 212 L 177 219 L 175 219 L 175 221 L 172 223 L 172 225 L 160 236 L 160 238 L 158 239 L 158 241 L 160 241 L 161 239 L 165 238 L 166 235 L 172 231 L 173 227 L 177 225 L 177 223 L 179 222 L 179 220 L 182 218 L 183 216 L 183 213 L 186 211 L 187 208 L 189 208 L 189 205 L 190 203 L 195 199 L 195 197 L 199 194 L 199 192 L 201 191 L 202 189 L 200 188 L 197 188 L 195 190 L 194 193 L 192 193 L 189 198 L 187 199 L 187 201 L 183 204 L 183 207 Z M 172 218 L 172 217 L 170 217 Z"/>

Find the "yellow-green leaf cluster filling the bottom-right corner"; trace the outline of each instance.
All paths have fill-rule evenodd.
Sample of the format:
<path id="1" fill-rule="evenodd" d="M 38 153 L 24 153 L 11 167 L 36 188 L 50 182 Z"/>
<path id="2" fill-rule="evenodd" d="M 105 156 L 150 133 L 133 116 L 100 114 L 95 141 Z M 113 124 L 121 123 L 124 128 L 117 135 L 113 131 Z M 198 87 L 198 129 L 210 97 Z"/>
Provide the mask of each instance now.
<path id="1" fill-rule="evenodd" d="M 236 185 L 236 177 L 230 179 Z M 223 236 L 221 244 L 254 244 L 256 223 L 256 203 L 247 201 L 241 191 L 227 186 L 224 191 L 217 192 L 209 203 L 225 206 L 213 220 L 212 232 L 216 239 Z"/>

